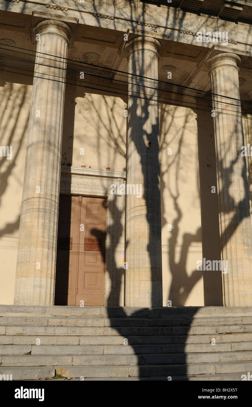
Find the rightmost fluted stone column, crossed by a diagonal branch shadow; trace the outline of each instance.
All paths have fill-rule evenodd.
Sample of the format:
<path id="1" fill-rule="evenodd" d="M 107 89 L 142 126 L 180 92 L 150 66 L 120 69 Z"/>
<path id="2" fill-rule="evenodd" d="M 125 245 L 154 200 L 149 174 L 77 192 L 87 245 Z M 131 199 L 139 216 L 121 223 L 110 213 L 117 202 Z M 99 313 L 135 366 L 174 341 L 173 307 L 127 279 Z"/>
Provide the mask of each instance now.
<path id="1" fill-rule="evenodd" d="M 208 61 L 216 115 L 221 258 L 228 260 L 228 273 L 222 273 L 226 306 L 252 305 L 252 226 L 246 158 L 241 156 L 245 144 L 237 66 L 240 62 L 233 53 L 218 54 Z"/>

